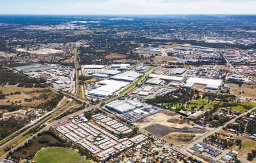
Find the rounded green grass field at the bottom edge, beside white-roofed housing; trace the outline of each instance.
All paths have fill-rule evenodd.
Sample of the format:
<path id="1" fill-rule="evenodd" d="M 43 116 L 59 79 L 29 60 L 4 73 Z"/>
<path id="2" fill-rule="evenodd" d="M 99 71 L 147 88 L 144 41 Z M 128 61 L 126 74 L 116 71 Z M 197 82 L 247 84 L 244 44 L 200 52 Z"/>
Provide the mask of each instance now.
<path id="1" fill-rule="evenodd" d="M 36 163 L 87 162 L 76 150 L 60 147 L 43 148 L 36 153 L 33 160 L 35 160 Z"/>

